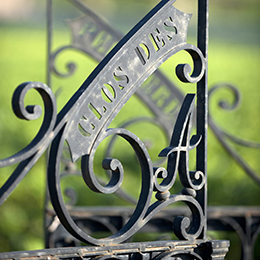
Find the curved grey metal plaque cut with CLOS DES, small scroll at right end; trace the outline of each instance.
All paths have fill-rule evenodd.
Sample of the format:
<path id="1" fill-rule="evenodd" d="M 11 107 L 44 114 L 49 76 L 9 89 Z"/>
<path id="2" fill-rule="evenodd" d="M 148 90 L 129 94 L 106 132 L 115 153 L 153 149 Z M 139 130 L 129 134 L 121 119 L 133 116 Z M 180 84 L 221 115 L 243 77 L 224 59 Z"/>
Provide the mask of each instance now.
<path id="1" fill-rule="evenodd" d="M 85 137 L 78 131 L 76 138 L 75 135 L 66 137 L 74 161 L 89 152 L 100 130 L 108 127 L 148 76 L 175 53 L 186 50 L 194 61 L 195 69 L 191 76 L 188 64 L 177 66 L 177 76 L 182 81 L 195 83 L 202 78 L 205 69 L 203 55 L 195 46 L 186 44 L 191 15 L 178 11 L 173 2 L 163 1 L 138 23 L 74 96 L 77 103 L 72 110 L 77 112 L 68 127 L 76 129 L 80 124 L 88 135 Z"/>

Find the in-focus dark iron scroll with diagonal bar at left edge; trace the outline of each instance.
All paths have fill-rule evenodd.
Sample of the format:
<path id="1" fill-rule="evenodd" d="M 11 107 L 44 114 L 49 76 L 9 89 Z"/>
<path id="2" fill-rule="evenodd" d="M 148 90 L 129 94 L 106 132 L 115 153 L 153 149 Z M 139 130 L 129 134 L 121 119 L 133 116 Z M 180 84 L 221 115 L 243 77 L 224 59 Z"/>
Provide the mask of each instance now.
<path id="1" fill-rule="evenodd" d="M 0 188 L 0 204 L 7 199 L 23 177 L 29 172 L 34 163 L 46 150 L 54 136 L 52 131 L 57 115 L 56 100 L 50 88 L 45 84 L 40 82 L 20 84 L 13 94 L 13 111 L 18 118 L 28 121 L 38 119 L 41 116 L 42 108 L 40 106 L 31 105 L 25 107 L 24 105 L 25 96 L 31 89 L 36 90 L 43 100 L 43 122 L 34 139 L 25 148 L 0 161 L 0 168 L 19 163 L 9 179 Z"/>

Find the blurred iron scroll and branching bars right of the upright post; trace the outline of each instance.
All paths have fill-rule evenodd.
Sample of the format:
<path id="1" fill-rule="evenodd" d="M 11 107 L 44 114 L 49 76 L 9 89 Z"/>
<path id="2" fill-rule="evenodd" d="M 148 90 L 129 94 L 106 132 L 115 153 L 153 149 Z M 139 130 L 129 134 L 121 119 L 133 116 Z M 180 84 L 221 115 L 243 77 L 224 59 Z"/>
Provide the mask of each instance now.
<path id="1" fill-rule="evenodd" d="M 233 102 L 228 103 L 226 100 L 219 101 L 219 107 L 224 110 L 234 110 L 238 107 L 240 103 L 240 92 L 239 90 L 231 85 L 231 84 L 218 84 L 213 86 L 209 91 L 209 101 L 212 102 L 212 97 L 214 96 L 214 93 L 221 89 L 225 88 L 231 91 L 232 95 L 234 96 Z M 248 163 L 238 154 L 238 152 L 229 144 L 228 141 L 231 141 L 235 144 L 238 144 L 240 146 L 244 147 L 250 147 L 259 149 L 260 143 L 256 142 L 249 142 L 242 140 L 241 138 L 238 138 L 236 136 L 233 136 L 229 134 L 228 132 L 221 129 L 213 120 L 213 117 L 211 115 L 211 111 L 209 109 L 209 126 L 215 136 L 218 138 L 221 145 L 228 151 L 228 153 L 234 158 L 234 160 L 238 163 L 238 165 L 258 184 L 260 184 L 260 177 L 259 175 L 248 165 Z"/>

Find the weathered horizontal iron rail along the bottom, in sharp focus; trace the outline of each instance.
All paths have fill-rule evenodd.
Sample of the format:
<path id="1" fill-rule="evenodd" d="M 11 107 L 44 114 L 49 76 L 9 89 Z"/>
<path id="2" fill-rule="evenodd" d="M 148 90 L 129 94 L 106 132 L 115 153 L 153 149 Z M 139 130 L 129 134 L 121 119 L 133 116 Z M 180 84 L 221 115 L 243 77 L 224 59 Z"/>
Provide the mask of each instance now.
<path id="1" fill-rule="evenodd" d="M 176 242 L 176 241 L 156 241 L 150 243 L 127 243 L 122 245 L 106 247 L 72 247 L 35 250 L 27 252 L 12 252 L 1 254 L 1 259 L 168 259 L 175 257 L 179 259 L 207 259 L 209 255 L 223 259 L 227 253 L 227 241 L 202 242 Z M 223 249 L 222 249 L 223 248 Z M 222 258 L 221 258 L 222 257 Z"/>

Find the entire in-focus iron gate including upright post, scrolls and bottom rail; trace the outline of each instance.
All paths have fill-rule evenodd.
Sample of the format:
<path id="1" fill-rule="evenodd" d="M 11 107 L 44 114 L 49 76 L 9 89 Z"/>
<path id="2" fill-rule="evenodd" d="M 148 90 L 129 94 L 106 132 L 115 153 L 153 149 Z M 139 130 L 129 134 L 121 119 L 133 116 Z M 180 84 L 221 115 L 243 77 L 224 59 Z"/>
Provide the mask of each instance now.
<path id="1" fill-rule="evenodd" d="M 24 108 L 23 99 L 26 93 L 30 89 L 36 89 L 39 94 L 42 96 L 45 105 L 45 115 L 43 126 L 40 129 L 39 133 L 32 141 L 32 143 L 23 149 L 21 152 L 15 154 L 14 156 L 4 159 L 0 162 L 1 167 L 5 167 L 7 165 L 11 165 L 14 163 L 19 163 L 19 166 L 8 179 L 8 181 L 1 187 L 0 189 L 0 201 L 3 203 L 7 197 L 11 194 L 14 188 L 19 184 L 19 182 L 23 179 L 23 177 L 28 173 L 30 168 L 34 165 L 34 163 L 38 160 L 38 158 L 42 155 L 42 153 L 47 149 L 50 143 L 52 143 L 48 164 L 48 183 L 49 183 L 49 192 L 52 200 L 52 204 L 55 208 L 57 215 L 59 216 L 60 221 L 66 227 L 66 229 L 78 239 L 93 244 L 95 247 L 87 247 L 84 248 L 74 248 L 74 249 L 46 249 L 46 250 L 38 250 L 31 252 L 17 252 L 17 253 L 1 253 L 0 258 L 74 258 L 74 257 L 95 257 L 99 256 L 100 259 L 109 259 L 109 258 L 124 258 L 124 257 L 141 257 L 142 258 L 154 258 L 154 259 L 162 259 L 168 258 L 170 256 L 178 256 L 184 257 L 183 259 L 193 257 L 196 259 L 211 259 L 218 257 L 219 259 L 224 259 L 225 254 L 228 250 L 228 241 L 210 241 L 206 237 L 206 219 L 207 219 L 207 111 L 208 111 L 208 100 L 207 100 L 207 44 L 208 44 L 208 2 L 207 1 L 198 1 L 198 47 L 190 44 L 186 44 L 186 28 L 188 26 L 189 15 L 186 15 L 182 12 L 179 12 L 177 9 L 173 7 L 173 2 L 175 1 L 162 1 L 155 7 L 123 40 L 119 42 L 119 44 L 108 54 L 108 56 L 99 64 L 97 69 L 91 74 L 91 76 L 83 83 L 82 87 L 75 93 L 72 99 L 65 105 L 64 109 L 58 114 L 56 110 L 56 101 L 51 90 L 44 84 L 33 82 L 33 83 L 23 83 L 18 86 L 13 95 L 13 110 L 18 118 L 33 120 L 37 119 L 40 115 L 38 107 L 29 106 Z M 175 19 L 172 18 L 170 11 L 175 13 L 176 16 L 183 16 L 184 18 Z M 159 14 L 159 15 L 158 15 Z M 165 16 L 166 15 L 166 16 Z M 162 22 L 160 19 L 164 17 L 163 24 L 159 23 L 156 25 L 156 31 L 143 27 L 143 24 L 152 25 L 157 19 L 159 22 Z M 170 17 L 170 19 L 168 19 Z M 166 20 L 168 19 L 168 20 Z M 176 25 L 177 23 L 177 25 Z M 174 24 L 174 25 L 173 25 Z M 183 27 L 182 27 L 183 26 Z M 172 28 L 171 28 L 172 27 Z M 177 28 L 176 28 L 177 27 Z M 152 27 L 151 27 L 152 28 Z M 154 28 L 154 27 L 153 27 Z M 159 29 L 158 29 L 159 28 Z M 171 28 L 171 29 L 169 29 Z M 172 30 L 174 28 L 174 30 Z M 143 31 L 142 31 L 143 30 Z M 165 32 L 163 32 L 165 30 Z M 136 34 L 140 34 L 143 36 L 144 33 L 148 33 L 148 35 L 152 36 L 152 39 L 144 39 L 140 36 L 135 36 Z M 165 38 L 160 38 L 164 33 Z M 153 35 L 154 34 L 154 35 Z M 177 34 L 177 37 L 175 37 Z M 180 35 L 180 36 L 179 36 Z M 180 37 L 180 38 L 178 38 Z M 147 48 L 149 51 L 149 55 L 147 55 L 145 49 L 141 49 L 138 45 L 138 42 L 145 42 L 144 48 Z M 173 41 L 175 46 L 169 46 L 166 41 Z M 149 46 L 148 42 L 153 41 L 156 48 L 153 46 Z M 172 140 L 169 147 L 164 148 L 160 156 L 168 157 L 168 168 L 167 170 L 164 168 L 156 168 L 152 169 L 151 162 L 149 158 L 149 154 L 146 152 L 146 148 L 136 136 L 134 136 L 129 131 L 123 129 L 114 129 L 108 130 L 106 132 L 102 132 L 108 123 L 100 123 L 97 121 L 95 117 L 90 116 L 89 113 L 97 112 L 99 114 L 98 120 L 101 120 L 102 117 L 106 118 L 105 112 L 109 111 L 112 107 L 111 115 L 116 114 L 120 108 L 124 105 L 127 100 L 123 100 L 124 96 L 121 97 L 122 104 L 108 105 L 104 103 L 106 100 L 102 100 L 102 97 L 97 95 L 97 93 L 93 94 L 93 98 L 90 98 L 88 101 L 88 97 L 92 92 L 96 91 L 96 88 L 91 87 L 94 85 L 95 80 L 99 73 L 103 73 L 102 76 L 107 74 L 109 70 L 111 70 L 111 66 L 107 66 L 110 62 L 113 63 L 113 59 L 117 62 L 120 61 L 121 56 L 124 54 L 125 49 L 128 48 L 128 43 L 130 47 L 134 50 L 133 60 L 131 64 L 136 65 L 137 68 L 142 68 L 142 66 L 149 63 L 149 59 L 153 64 L 147 70 L 144 70 L 143 74 L 140 74 L 137 68 L 134 70 L 128 71 L 126 74 L 122 74 L 125 70 L 122 69 L 129 61 L 124 59 L 125 64 L 118 66 L 119 69 L 116 71 L 113 69 L 112 74 L 119 77 L 119 81 L 124 81 L 125 84 L 131 82 L 132 75 L 133 78 L 135 76 L 134 73 L 139 73 L 139 78 L 144 81 L 144 78 L 147 77 L 151 70 L 154 70 L 161 64 L 160 59 L 162 57 L 166 57 L 170 52 L 173 54 L 180 51 L 186 50 L 192 57 L 194 61 L 194 70 L 192 75 L 190 75 L 190 67 L 187 64 L 179 65 L 176 69 L 177 76 L 183 82 L 197 83 L 197 134 L 194 138 L 191 139 L 191 143 L 189 140 L 190 137 L 190 129 L 191 129 L 191 115 L 194 110 L 192 107 L 195 100 L 194 94 L 189 94 L 186 96 L 182 108 L 180 110 L 175 129 L 173 132 Z M 147 45 L 146 45 L 147 44 Z M 150 42 L 151 44 L 151 42 Z M 161 44 L 161 45 L 160 45 Z M 149 47 L 147 47 L 149 46 Z M 154 48 L 154 49 L 153 49 Z M 164 48 L 164 53 L 158 54 L 158 50 Z M 167 49 L 168 48 L 168 49 Z M 122 52 L 122 54 L 120 54 Z M 154 61 L 152 56 L 154 55 Z M 171 54 L 171 55 L 173 55 Z M 119 57 L 117 57 L 117 55 Z M 145 56 L 147 55 L 147 56 Z M 171 56 L 169 55 L 169 57 Z M 128 57 L 129 58 L 129 57 Z M 123 63 L 124 63 L 123 62 Z M 140 64 L 141 63 L 141 64 Z M 108 68 L 106 68 L 106 66 Z M 114 65 L 113 65 L 114 66 Z M 132 73 L 132 74 L 131 74 Z M 137 73 L 137 75 L 138 75 Z M 147 74 L 147 75 L 146 75 Z M 110 77 L 111 77 L 110 75 Z M 107 76 L 107 80 L 109 82 L 116 83 L 117 80 L 113 80 Z M 123 77 L 123 78 L 120 78 Z M 137 77 L 137 78 L 138 78 Z M 93 83 L 94 82 L 94 83 Z M 105 83 L 104 83 L 105 84 Z M 136 83 L 135 83 L 136 84 Z M 89 87 L 90 86 L 90 87 Z M 113 88 L 113 86 L 111 86 Z M 123 90 L 125 86 L 121 86 Z M 139 87 L 139 85 L 137 85 Z M 135 87 L 135 88 L 137 88 Z M 130 94 L 127 94 L 128 99 L 134 92 L 134 87 L 132 87 Z M 89 91 L 89 94 L 86 93 Z M 116 90 L 113 88 L 113 91 L 107 89 L 106 87 L 102 87 L 102 91 L 110 100 L 108 103 L 117 102 L 116 96 L 120 97 L 120 90 Z M 100 89 L 98 89 L 100 91 Z M 85 97 L 84 97 L 85 95 Z M 102 101 L 102 106 L 97 102 L 97 97 Z M 103 98 L 104 99 L 104 98 Z M 100 101 L 99 100 L 99 101 Z M 121 100 L 120 100 L 121 101 Z M 94 105 L 93 105 L 94 103 Z M 84 109 L 89 109 L 89 104 L 91 105 L 91 109 L 89 113 L 84 114 Z M 106 106 L 104 105 L 106 104 Z M 85 105 L 86 107 L 83 107 Z M 110 107 L 109 107 L 110 106 Z M 104 109 L 101 112 L 100 109 Z M 75 113 L 75 111 L 77 113 Z M 78 115 L 80 113 L 80 116 Z M 83 121 L 81 115 L 83 113 Z M 81 140 L 86 142 L 86 138 L 82 139 L 82 135 L 80 135 L 77 131 L 72 131 L 73 127 L 75 127 L 75 117 L 78 118 L 76 125 L 78 123 L 81 124 L 82 128 L 87 132 L 87 137 L 92 136 L 89 142 L 89 148 L 86 148 L 85 145 L 82 146 Z M 94 115 L 96 116 L 96 115 Z M 73 117 L 73 118 L 72 118 Z M 88 117 L 92 120 L 91 125 L 87 125 L 84 120 Z M 97 117 L 97 116 L 96 116 Z M 112 120 L 108 118 L 108 120 Z M 91 129 L 92 128 L 92 129 Z M 75 128 L 74 128 L 75 129 Z M 95 133 L 96 130 L 99 132 Z M 65 131 L 65 132 L 64 132 Z M 92 132 L 91 132 L 92 131 Z M 86 184 L 96 192 L 110 193 L 117 190 L 122 182 L 122 169 L 121 164 L 115 159 L 105 159 L 103 168 L 112 170 L 112 178 L 108 185 L 105 187 L 100 185 L 95 179 L 89 164 L 92 162 L 92 149 L 94 147 L 95 152 L 95 142 L 97 138 L 103 139 L 104 137 L 110 134 L 117 134 L 125 138 L 129 141 L 132 147 L 137 152 L 140 162 L 143 164 L 143 169 L 145 169 L 143 173 L 143 178 L 145 182 L 150 183 L 149 187 L 145 187 L 144 185 L 144 193 L 147 196 L 154 189 L 157 191 L 157 202 L 153 205 L 150 205 L 150 200 L 147 198 L 142 199 L 141 196 L 140 201 L 138 202 L 137 208 L 134 213 L 133 220 L 132 217 L 128 222 L 128 226 L 123 227 L 115 235 L 111 236 L 108 239 L 93 239 L 88 235 L 85 235 L 81 230 L 79 230 L 74 224 L 73 220 L 67 215 L 67 211 L 62 201 L 60 200 L 60 190 L 57 186 L 57 180 L 59 181 L 59 170 L 58 163 L 56 162 L 57 155 L 61 156 L 61 147 L 60 140 L 63 141 L 66 138 L 69 143 L 69 147 L 71 150 L 72 159 L 75 161 L 79 157 L 83 156 L 82 162 L 82 171 L 83 177 L 85 179 Z M 65 134 L 65 136 L 63 136 Z M 95 135 L 96 134 L 96 135 Z M 77 137 L 75 139 L 75 136 Z M 98 139 L 97 139 L 98 140 Z M 63 142 L 61 142 L 63 143 Z M 81 147 L 79 149 L 79 147 Z M 197 166 L 195 172 L 190 172 L 187 162 L 188 157 L 187 153 L 190 149 L 197 147 Z M 175 154 L 176 153 L 176 154 Z M 57 154 L 57 155 L 55 155 Z M 55 155 L 55 156 L 53 156 Z M 58 159 L 59 160 L 59 159 Z M 56 169 L 57 168 L 57 169 Z M 182 180 L 182 184 L 184 189 L 181 194 L 171 195 L 169 192 L 169 188 L 174 184 L 175 177 L 177 174 L 177 168 L 179 170 L 179 175 Z M 147 172 L 150 172 L 150 175 L 147 175 Z M 148 176 L 150 176 L 148 178 Z M 163 178 L 164 181 L 159 183 L 156 179 L 160 177 Z M 148 198 L 150 197 L 148 196 Z M 162 206 L 166 205 L 170 202 L 174 202 L 177 200 L 186 201 L 188 206 L 192 211 L 193 222 L 190 223 L 189 219 L 186 217 L 177 217 L 174 221 L 174 229 L 175 234 L 181 239 L 180 241 L 163 241 L 163 242 L 147 242 L 147 243 L 134 243 L 134 244 L 122 244 L 128 237 L 133 235 L 137 229 L 143 225 L 141 222 L 147 222 L 155 212 L 159 211 Z M 145 206 L 144 206 L 145 205 Z M 146 211 L 146 212 L 145 212 Z M 153 213 L 154 212 L 154 213 Z M 140 217 L 138 216 L 140 215 Z M 148 220 L 145 220 L 147 218 Z M 141 221 L 140 221 L 141 220 Z M 187 231 L 187 227 L 191 225 L 191 228 Z M 131 231 L 132 229 L 132 231 Z M 130 231 L 129 231 L 130 230 Z M 195 230 L 195 231 L 194 231 Z M 123 235 L 122 235 L 123 234 Z M 127 235 L 124 235 L 127 234 Z M 182 241 L 184 240 L 184 241 Z M 185 241 L 186 240 L 186 241 Z M 156 244 L 157 243 L 157 244 Z M 160 246 L 158 246 L 160 244 Z M 157 245 L 157 246 L 156 246 Z M 99 247 L 97 247 L 99 246 Z M 135 250 L 133 250 L 135 248 Z M 155 248 L 155 249 L 154 249 Z M 184 250 L 182 250 L 184 248 Z M 91 252 L 92 251 L 92 252 Z M 137 252 L 138 251 L 138 252 Z M 90 253 L 91 252 L 91 253 Z M 112 252 L 112 253 L 111 253 Z M 138 256 L 135 254 L 137 252 Z M 159 253 L 158 253 L 159 252 Z"/>

